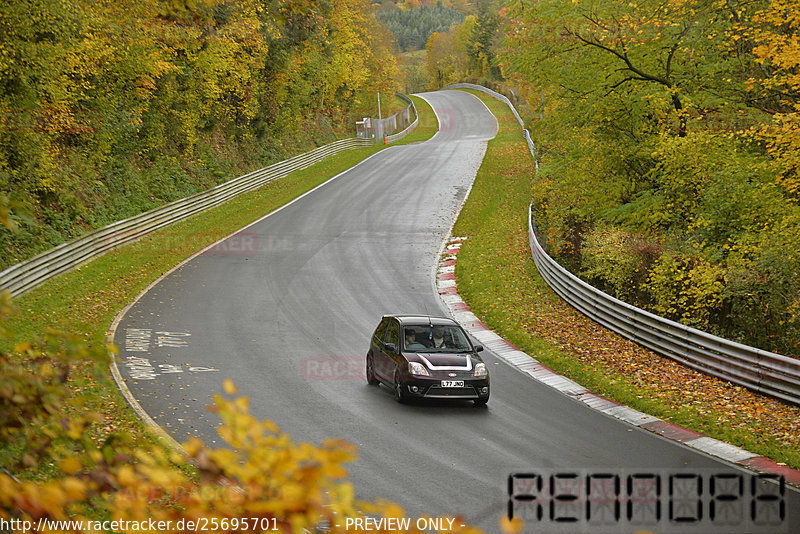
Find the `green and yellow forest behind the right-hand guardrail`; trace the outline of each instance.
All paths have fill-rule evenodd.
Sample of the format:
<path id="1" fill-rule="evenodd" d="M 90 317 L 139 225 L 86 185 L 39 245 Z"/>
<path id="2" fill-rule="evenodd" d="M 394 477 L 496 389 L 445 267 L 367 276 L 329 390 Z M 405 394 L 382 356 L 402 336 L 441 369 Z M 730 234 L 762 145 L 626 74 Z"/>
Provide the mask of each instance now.
<path id="1" fill-rule="evenodd" d="M 798 356 L 798 25 L 797 0 L 484 1 L 429 37 L 425 83 L 515 103 L 540 161 L 534 216 L 562 265 Z M 401 63 L 409 80 L 419 64 Z"/>

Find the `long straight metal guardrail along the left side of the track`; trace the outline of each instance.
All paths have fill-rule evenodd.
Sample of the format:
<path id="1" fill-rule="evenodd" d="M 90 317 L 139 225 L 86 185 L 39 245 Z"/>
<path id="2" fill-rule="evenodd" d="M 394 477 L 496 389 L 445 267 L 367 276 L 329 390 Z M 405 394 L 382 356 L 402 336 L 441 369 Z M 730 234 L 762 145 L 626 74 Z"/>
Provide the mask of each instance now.
<path id="1" fill-rule="evenodd" d="M 269 181 L 287 176 L 292 171 L 310 167 L 343 150 L 372 145 L 372 139 L 342 139 L 239 176 L 206 191 L 94 230 L 0 272 L 0 290 L 7 289 L 13 296 L 20 296 L 59 274 L 159 228 L 218 206 L 235 196 L 258 189 Z"/>

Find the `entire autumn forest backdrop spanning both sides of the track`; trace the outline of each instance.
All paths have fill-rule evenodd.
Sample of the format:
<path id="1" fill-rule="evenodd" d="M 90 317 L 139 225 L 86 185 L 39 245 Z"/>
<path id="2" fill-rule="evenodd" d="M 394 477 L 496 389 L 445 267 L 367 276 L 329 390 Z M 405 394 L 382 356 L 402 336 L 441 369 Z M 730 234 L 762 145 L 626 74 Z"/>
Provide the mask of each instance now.
<path id="1" fill-rule="evenodd" d="M 0 6 L 0 268 L 352 135 L 375 93 L 522 111 L 548 250 L 593 285 L 800 354 L 797 0 Z"/>

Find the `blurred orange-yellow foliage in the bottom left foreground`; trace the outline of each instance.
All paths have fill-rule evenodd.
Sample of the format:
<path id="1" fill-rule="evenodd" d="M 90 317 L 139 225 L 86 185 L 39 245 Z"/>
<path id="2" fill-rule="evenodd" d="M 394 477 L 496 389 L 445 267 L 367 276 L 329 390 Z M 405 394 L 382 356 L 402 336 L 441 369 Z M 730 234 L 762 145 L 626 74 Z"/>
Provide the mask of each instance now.
<path id="1" fill-rule="evenodd" d="M 2 363 L 4 370 L 11 365 Z M 225 389 L 236 391 L 232 383 Z M 0 409 L 7 402 L 0 397 Z M 256 420 L 243 397 L 218 396 L 214 410 L 223 421 L 219 434 L 231 448 L 209 449 L 192 438 L 183 444 L 183 453 L 159 444 L 100 451 L 82 440 L 87 424 L 97 418 L 88 413 L 71 421 L 60 439 L 75 447 L 58 463 L 60 476 L 35 483 L 0 474 L 0 514 L 88 524 L 83 516 L 88 510 L 90 516 L 102 513 L 111 521 L 166 521 L 168 531 L 187 530 L 178 528 L 181 521 L 207 521 L 214 530 L 296 533 L 321 524 L 330 525 L 330 532 L 344 532 L 345 518 L 364 514 L 405 517 L 396 504 L 355 499 L 345 467 L 356 458 L 354 446 L 338 439 L 319 446 L 295 443 L 274 423 Z M 43 450 L 56 453 L 52 447 Z M 455 532 L 478 531 L 460 527 Z"/>

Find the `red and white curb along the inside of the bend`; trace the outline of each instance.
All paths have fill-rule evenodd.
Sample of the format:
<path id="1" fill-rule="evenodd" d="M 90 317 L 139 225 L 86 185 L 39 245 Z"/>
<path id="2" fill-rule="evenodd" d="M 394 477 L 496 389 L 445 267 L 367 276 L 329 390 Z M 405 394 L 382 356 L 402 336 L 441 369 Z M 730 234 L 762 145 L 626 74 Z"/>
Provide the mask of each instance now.
<path id="1" fill-rule="evenodd" d="M 676 425 L 642 413 L 633 408 L 623 406 L 614 401 L 596 395 L 577 382 L 556 373 L 541 364 L 535 358 L 519 350 L 517 347 L 489 330 L 470 310 L 469 306 L 458 294 L 455 280 L 456 257 L 461 243 L 466 238 L 451 237 L 444 246 L 444 253 L 439 260 L 436 275 L 436 288 L 444 304 L 453 318 L 475 339 L 496 354 L 510 366 L 529 375 L 561 393 L 583 402 L 588 407 L 621 419 L 633 426 L 649 430 L 655 434 L 677 441 L 693 449 L 703 451 L 711 456 L 741 465 L 750 470 L 782 475 L 786 482 L 800 486 L 800 470 L 792 469 L 755 453 L 741 449 L 729 443 L 710 438 Z"/>

